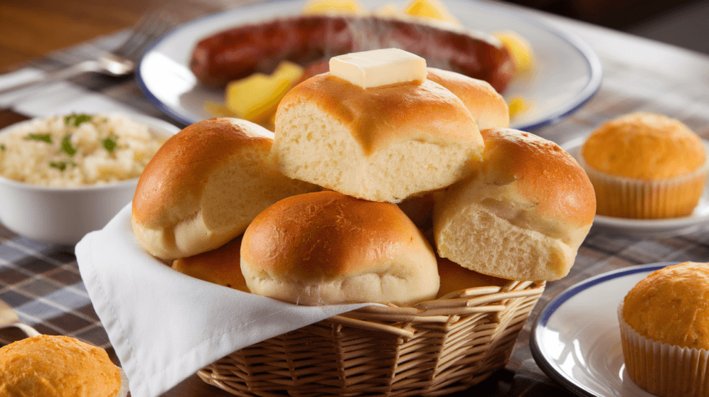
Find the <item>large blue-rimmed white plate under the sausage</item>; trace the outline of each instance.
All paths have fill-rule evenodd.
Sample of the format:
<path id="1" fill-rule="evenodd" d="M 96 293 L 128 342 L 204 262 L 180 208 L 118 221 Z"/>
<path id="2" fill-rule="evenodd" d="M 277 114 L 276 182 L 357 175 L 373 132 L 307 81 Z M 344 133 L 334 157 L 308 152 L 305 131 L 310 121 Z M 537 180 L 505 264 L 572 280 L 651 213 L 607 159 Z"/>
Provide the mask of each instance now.
<path id="1" fill-rule="evenodd" d="M 535 75 L 513 80 L 504 96 L 524 98 L 532 107 L 515 117 L 511 127 L 528 131 L 556 122 L 579 108 L 601 85 L 601 62 L 591 47 L 574 35 L 493 4 L 444 2 L 469 28 L 486 32 L 514 30 L 531 43 L 537 59 Z M 401 8 L 404 2 L 395 3 Z M 201 86 L 190 71 L 189 58 L 196 43 L 242 23 L 296 15 L 303 4 L 300 0 L 271 1 L 186 23 L 147 51 L 138 67 L 138 82 L 147 98 L 184 124 L 213 117 L 205 104 L 223 103 L 223 92 Z M 362 0 L 361 4 L 369 10 L 381 6 L 374 0 Z"/>

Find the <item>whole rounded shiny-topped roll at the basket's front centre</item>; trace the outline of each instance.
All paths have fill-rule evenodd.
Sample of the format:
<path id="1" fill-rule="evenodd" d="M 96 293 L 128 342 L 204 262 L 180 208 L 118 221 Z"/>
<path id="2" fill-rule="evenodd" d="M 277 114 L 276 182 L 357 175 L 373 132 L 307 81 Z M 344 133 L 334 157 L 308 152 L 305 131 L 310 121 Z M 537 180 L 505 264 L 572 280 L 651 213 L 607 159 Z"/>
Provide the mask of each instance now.
<path id="1" fill-rule="evenodd" d="M 254 294 L 304 305 L 435 299 L 436 258 L 396 205 L 339 192 L 288 197 L 249 225 L 241 270 Z"/>

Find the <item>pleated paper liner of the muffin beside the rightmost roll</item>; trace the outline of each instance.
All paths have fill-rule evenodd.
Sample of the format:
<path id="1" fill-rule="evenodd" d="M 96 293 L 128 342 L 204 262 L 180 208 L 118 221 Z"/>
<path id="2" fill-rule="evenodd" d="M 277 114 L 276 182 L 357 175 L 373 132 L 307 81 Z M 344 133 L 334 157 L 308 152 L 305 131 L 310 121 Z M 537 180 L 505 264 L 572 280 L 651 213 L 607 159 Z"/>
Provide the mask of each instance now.
<path id="1" fill-rule="evenodd" d="M 608 217 L 686 217 L 698 205 L 709 174 L 709 157 L 693 173 L 661 180 L 613 176 L 591 168 L 583 156 L 579 156 L 578 161 L 596 190 L 596 213 Z"/>

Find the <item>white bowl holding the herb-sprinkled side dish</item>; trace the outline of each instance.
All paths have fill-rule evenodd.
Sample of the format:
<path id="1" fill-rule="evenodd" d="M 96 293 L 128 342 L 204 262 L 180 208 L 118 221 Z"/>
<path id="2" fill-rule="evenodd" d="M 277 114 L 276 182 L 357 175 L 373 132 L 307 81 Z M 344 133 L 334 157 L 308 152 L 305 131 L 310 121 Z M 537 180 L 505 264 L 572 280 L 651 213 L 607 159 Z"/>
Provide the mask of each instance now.
<path id="1" fill-rule="evenodd" d="M 125 115 L 147 125 L 154 134 L 179 132 L 169 122 L 143 115 Z M 44 117 L 42 117 L 44 118 Z M 5 127 L 11 132 L 27 120 Z M 106 226 L 135 194 L 138 178 L 106 185 L 55 188 L 0 177 L 0 223 L 16 234 L 50 243 L 75 244 L 89 231 Z"/>

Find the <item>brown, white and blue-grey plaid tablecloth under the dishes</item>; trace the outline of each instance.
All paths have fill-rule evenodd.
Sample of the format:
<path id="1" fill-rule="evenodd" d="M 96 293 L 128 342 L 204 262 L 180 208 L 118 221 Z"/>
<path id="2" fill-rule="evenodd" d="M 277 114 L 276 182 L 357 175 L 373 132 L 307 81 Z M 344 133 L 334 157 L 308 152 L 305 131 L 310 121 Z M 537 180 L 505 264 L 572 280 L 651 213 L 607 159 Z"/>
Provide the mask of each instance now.
<path id="1" fill-rule="evenodd" d="M 125 33 L 99 38 L 86 45 L 52 54 L 28 67 L 49 70 L 73 62 L 91 47 L 110 49 Z M 593 43 L 591 43 L 593 45 Z M 554 125 L 535 130 L 557 143 L 588 134 L 593 128 L 617 115 L 637 110 L 676 117 L 709 139 L 709 57 L 685 54 L 704 64 L 704 74 L 677 73 L 672 64 L 666 69 L 642 67 L 621 57 L 599 52 L 603 64 L 600 90 L 573 115 Z M 701 70 L 701 68 L 700 68 Z M 147 115 L 170 120 L 149 103 L 133 79 L 85 75 L 71 83 L 91 95 L 99 94 L 135 108 Z M 3 98 L 0 98 L 0 104 Z M 21 113 L 23 105 L 16 107 Z M 21 116 L 0 112 L 0 126 Z M 2 201 L 0 198 L 0 205 Z M 709 225 L 707 225 L 709 227 Z M 13 306 L 21 321 L 42 333 L 77 337 L 106 347 L 110 343 L 91 306 L 79 276 L 73 246 L 57 246 L 17 236 L 0 225 L 0 299 Z M 671 238 L 639 238 L 622 232 L 592 229 L 579 250 L 576 263 L 563 280 L 549 282 L 539 304 L 527 321 L 506 369 L 493 375 L 479 388 L 481 396 L 571 396 L 572 393 L 549 379 L 532 359 L 529 348 L 532 321 L 545 304 L 576 282 L 602 272 L 666 261 L 709 262 L 709 231 L 704 229 Z M 18 330 L 0 330 L 0 344 L 21 338 Z M 459 393 L 461 396 L 465 393 Z"/>

